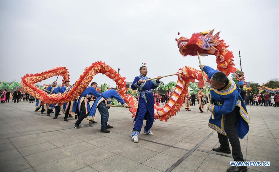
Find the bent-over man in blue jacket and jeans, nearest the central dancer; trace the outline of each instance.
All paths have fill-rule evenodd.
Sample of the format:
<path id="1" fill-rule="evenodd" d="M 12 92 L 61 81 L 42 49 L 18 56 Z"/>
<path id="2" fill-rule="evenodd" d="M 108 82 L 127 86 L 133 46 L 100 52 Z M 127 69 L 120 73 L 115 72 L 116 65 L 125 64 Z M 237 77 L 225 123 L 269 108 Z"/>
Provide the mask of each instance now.
<path id="1" fill-rule="evenodd" d="M 107 128 L 113 128 L 108 123 L 108 109 L 110 107 L 110 103 L 113 98 L 115 98 L 117 101 L 119 101 L 123 107 L 129 108 L 129 106 L 125 103 L 125 101 L 119 96 L 119 94 L 116 91 L 116 88 L 113 88 L 111 90 L 103 92 L 100 97 L 98 97 L 94 104 L 91 107 L 90 113 L 87 116 L 87 120 L 94 121 L 95 120 L 95 114 L 96 109 L 98 108 L 100 114 L 101 114 L 101 132 L 103 133 L 109 133 L 110 131 L 107 130 Z"/>

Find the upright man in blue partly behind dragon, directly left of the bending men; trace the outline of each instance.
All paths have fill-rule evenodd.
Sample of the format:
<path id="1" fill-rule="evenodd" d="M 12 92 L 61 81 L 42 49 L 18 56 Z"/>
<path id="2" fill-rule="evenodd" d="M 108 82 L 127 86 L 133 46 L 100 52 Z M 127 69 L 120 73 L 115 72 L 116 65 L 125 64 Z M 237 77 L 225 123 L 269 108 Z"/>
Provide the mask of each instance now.
<path id="1" fill-rule="evenodd" d="M 61 93 L 67 92 L 70 90 L 69 86 L 70 82 L 69 81 L 64 81 L 64 85 L 61 88 Z M 76 114 L 76 107 L 77 107 L 77 102 L 76 101 L 69 101 L 68 103 L 63 103 L 63 106 L 61 107 L 64 116 L 64 121 L 68 121 L 69 118 L 73 118 L 72 114 Z"/>

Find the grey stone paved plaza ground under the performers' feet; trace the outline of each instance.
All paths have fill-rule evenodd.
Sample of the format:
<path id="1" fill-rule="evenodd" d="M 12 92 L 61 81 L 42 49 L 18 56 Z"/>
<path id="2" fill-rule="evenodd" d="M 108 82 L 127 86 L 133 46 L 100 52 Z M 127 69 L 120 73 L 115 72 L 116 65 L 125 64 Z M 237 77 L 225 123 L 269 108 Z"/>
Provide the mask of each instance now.
<path id="1" fill-rule="evenodd" d="M 217 133 L 208 127 L 209 113 L 178 113 L 169 121 L 156 120 L 154 136 L 140 133 L 131 141 L 133 123 L 126 108 L 109 110 L 110 133 L 100 133 L 100 114 L 80 129 L 75 119 L 52 119 L 34 112 L 34 103 L 0 105 L 0 171 L 226 171 L 232 154 L 211 151 Z M 247 106 L 250 131 L 240 140 L 247 161 L 270 161 L 270 167 L 248 171 L 278 171 L 279 109 Z M 51 115 L 54 116 L 53 114 Z"/>

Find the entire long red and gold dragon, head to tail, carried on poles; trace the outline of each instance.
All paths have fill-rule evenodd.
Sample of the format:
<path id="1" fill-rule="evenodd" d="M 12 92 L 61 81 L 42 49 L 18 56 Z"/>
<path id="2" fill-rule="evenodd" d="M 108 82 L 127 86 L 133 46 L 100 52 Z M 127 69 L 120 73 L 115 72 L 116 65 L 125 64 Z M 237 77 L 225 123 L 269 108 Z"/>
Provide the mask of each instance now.
<path id="1" fill-rule="evenodd" d="M 187 55 L 197 55 L 197 51 L 201 55 L 214 54 L 216 56 L 217 69 L 224 72 L 226 75 L 233 73 L 236 69 L 233 67 L 233 55 L 232 52 L 228 51 L 224 40 L 219 40 L 219 32 L 212 36 L 214 30 L 210 32 L 199 32 L 194 33 L 190 39 L 185 37 L 180 37 L 177 39 L 179 52 L 183 56 Z M 64 92 L 63 94 L 48 94 L 40 88 L 34 86 L 35 83 L 50 78 L 55 75 L 61 75 L 64 80 L 69 80 L 69 72 L 65 67 L 55 67 L 51 70 L 37 73 L 37 74 L 27 74 L 22 77 L 21 87 L 31 94 L 32 96 L 38 98 L 44 103 L 64 103 L 69 102 L 78 98 L 79 95 L 88 87 L 91 80 L 98 73 L 108 76 L 112 79 L 118 86 L 118 93 L 123 98 L 123 100 L 131 107 L 137 107 L 138 101 L 131 94 L 126 94 L 126 81 L 125 77 L 122 77 L 113 68 L 105 64 L 104 62 L 92 63 L 90 67 L 86 67 L 78 81 L 73 84 L 69 92 Z M 190 82 L 199 81 L 198 86 L 203 87 L 203 79 L 200 70 L 194 69 L 192 67 L 182 67 L 178 70 L 178 80 L 175 86 L 174 94 L 171 96 L 170 100 L 163 107 L 157 107 L 154 105 L 154 117 L 155 119 L 160 119 L 161 121 L 166 121 L 175 115 L 182 107 L 184 96 L 188 93 L 188 86 Z M 209 83 L 209 79 L 206 76 L 206 82 Z M 132 117 L 135 116 L 136 109 L 130 108 L 129 111 L 132 113 Z"/>

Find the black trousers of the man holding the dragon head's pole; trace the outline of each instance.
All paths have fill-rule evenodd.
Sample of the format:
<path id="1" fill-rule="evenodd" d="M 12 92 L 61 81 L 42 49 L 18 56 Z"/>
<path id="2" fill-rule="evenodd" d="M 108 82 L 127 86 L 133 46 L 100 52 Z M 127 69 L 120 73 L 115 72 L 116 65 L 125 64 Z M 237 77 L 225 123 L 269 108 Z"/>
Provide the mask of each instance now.
<path id="1" fill-rule="evenodd" d="M 232 157 L 234 161 L 244 161 L 236 130 L 236 122 L 238 115 L 240 115 L 238 109 L 233 110 L 231 113 L 224 115 L 224 130 L 228 136 L 218 133 L 218 138 L 222 148 L 229 149 L 230 147 L 228 141 L 230 141 L 232 145 Z"/>

